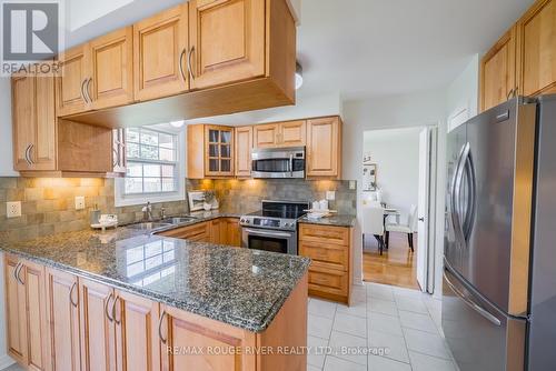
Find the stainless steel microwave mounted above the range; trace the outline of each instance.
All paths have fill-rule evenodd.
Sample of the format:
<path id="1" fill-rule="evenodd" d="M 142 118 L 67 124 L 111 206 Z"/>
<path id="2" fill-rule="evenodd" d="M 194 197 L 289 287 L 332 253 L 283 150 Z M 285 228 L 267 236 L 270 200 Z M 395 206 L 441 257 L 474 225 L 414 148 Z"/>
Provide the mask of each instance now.
<path id="1" fill-rule="evenodd" d="M 305 178 L 305 147 L 251 151 L 252 178 Z"/>

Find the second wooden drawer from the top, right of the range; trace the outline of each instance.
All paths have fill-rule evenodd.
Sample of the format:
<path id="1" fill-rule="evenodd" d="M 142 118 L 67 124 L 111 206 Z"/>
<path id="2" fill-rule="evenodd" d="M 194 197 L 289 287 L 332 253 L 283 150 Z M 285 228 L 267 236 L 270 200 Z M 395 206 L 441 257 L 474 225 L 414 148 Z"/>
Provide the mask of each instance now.
<path id="1" fill-rule="evenodd" d="M 317 263 L 330 269 L 348 270 L 348 247 L 339 244 L 321 244 L 315 242 L 299 242 L 299 254 L 312 259 Z"/>

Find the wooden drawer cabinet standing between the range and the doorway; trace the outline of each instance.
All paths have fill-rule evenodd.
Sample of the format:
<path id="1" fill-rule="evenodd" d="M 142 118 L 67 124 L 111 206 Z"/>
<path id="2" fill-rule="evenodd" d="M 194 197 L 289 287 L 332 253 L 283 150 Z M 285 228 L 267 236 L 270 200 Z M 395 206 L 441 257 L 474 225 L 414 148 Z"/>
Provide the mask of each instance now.
<path id="1" fill-rule="evenodd" d="M 299 254 L 310 258 L 309 295 L 349 304 L 353 230 L 347 227 L 300 224 Z"/>

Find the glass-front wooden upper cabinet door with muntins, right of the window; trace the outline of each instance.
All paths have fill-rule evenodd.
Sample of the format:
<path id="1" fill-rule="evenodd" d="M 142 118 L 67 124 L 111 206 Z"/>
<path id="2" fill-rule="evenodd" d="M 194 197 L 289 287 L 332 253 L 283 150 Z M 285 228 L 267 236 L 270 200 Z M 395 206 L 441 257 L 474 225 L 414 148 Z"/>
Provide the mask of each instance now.
<path id="1" fill-rule="evenodd" d="M 206 176 L 234 176 L 234 129 L 218 126 L 205 127 Z"/>

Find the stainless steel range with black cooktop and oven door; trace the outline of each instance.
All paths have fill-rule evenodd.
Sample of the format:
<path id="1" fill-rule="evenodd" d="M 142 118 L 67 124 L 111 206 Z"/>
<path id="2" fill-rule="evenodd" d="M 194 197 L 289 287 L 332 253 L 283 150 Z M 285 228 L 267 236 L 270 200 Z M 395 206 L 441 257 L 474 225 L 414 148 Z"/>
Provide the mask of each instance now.
<path id="1" fill-rule="evenodd" d="M 262 201 L 262 210 L 239 220 L 242 247 L 297 255 L 297 220 L 307 209 L 308 202 Z"/>

